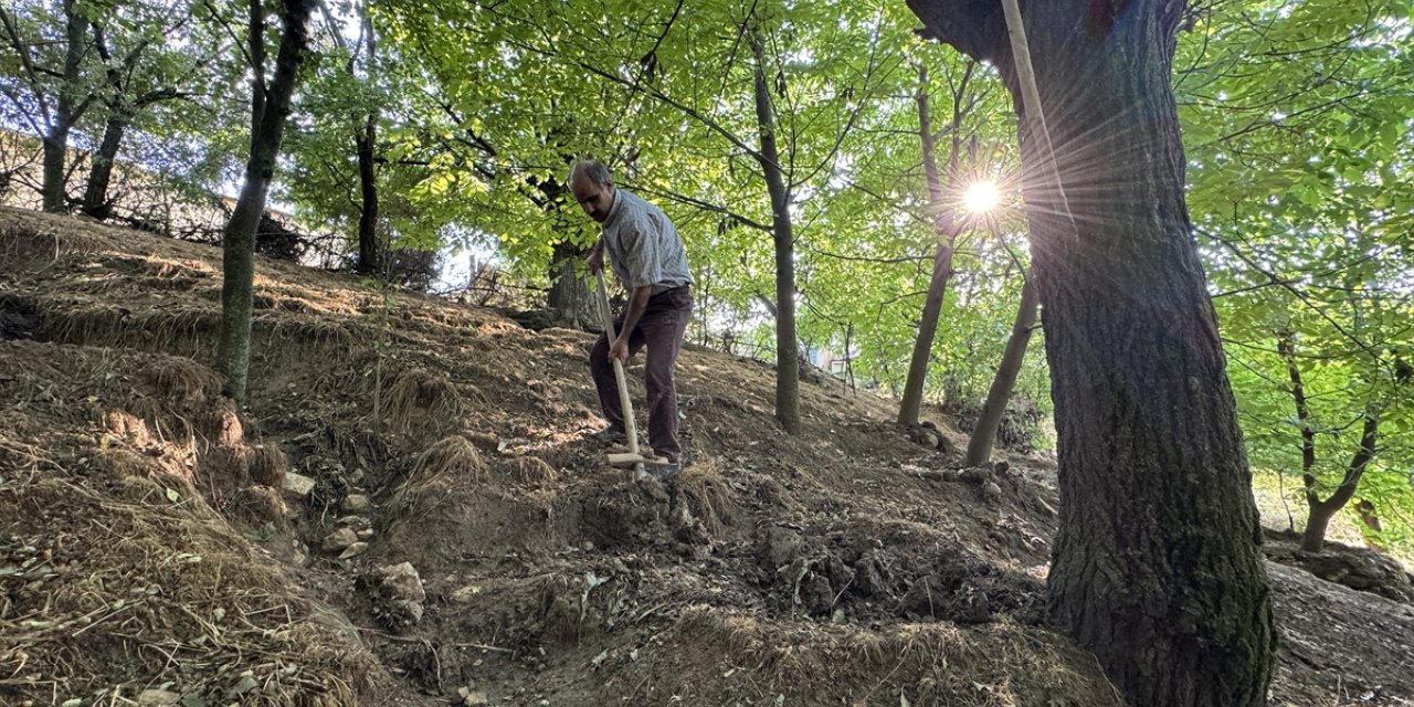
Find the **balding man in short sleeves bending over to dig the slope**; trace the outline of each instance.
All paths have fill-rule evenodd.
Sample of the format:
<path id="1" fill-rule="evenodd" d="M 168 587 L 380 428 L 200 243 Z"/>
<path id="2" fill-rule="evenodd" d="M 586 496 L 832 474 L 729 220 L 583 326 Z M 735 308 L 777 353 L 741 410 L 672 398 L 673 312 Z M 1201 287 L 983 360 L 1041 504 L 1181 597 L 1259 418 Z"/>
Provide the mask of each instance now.
<path id="1" fill-rule="evenodd" d="M 683 346 L 683 334 L 693 312 L 691 276 L 687 252 L 677 229 L 658 206 L 614 185 L 607 167 L 581 161 L 570 170 L 570 192 L 594 221 L 602 236 L 590 252 L 590 271 L 604 269 L 608 252 L 614 274 L 628 290 L 628 310 L 614 321 L 618 332 L 608 341 L 600 337 L 590 354 L 590 372 L 600 392 L 600 407 L 609 421 L 607 437 L 624 436 L 624 410 L 619 406 L 614 359 L 629 356 L 648 346 L 648 444 L 667 464 L 649 467 L 669 479 L 682 471 L 682 445 L 677 441 L 677 390 L 673 366 Z"/>

